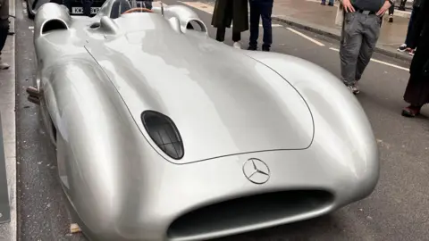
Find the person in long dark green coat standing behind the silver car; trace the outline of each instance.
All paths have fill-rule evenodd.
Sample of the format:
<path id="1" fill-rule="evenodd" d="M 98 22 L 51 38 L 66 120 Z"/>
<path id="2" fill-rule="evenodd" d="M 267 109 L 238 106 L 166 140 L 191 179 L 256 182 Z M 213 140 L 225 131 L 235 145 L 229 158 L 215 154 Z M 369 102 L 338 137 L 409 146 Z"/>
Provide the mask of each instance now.
<path id="1" fill-rule="evenodd" d="M 241 48 L 241 32 L 248 30 L 248 1 L 247 0 L 216 0 L 212 25 L 217 29 L 216 40 L 223 42 L 225 29 L 231 28 L 234 47 Z"/>

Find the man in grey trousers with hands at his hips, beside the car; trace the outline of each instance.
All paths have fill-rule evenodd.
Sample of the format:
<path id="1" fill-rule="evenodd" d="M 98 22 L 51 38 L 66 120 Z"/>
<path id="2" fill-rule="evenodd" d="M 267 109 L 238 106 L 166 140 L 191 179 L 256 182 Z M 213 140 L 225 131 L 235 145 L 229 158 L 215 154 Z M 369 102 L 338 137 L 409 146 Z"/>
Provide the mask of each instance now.
<path id="1" fill-rule="evenodd" d="M 391 0 L 342 0 L 344 17 L 341 30 L 341 78 L 353 94 L 380 37 L 383 14 Z"/>

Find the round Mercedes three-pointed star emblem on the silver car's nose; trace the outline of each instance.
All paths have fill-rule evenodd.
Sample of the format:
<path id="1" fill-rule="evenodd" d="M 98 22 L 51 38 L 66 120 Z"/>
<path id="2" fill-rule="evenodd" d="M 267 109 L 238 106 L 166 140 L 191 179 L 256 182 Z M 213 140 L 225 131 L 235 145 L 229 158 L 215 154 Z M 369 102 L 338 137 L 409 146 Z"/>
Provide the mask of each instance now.
<path id="1" fill-rule="evenodd" d="M 243 173 L 246 178 L 255 184 L 264 184 L 270 179 L 270 169 L 261 160 L 250 158 L 244 162 Z"/>

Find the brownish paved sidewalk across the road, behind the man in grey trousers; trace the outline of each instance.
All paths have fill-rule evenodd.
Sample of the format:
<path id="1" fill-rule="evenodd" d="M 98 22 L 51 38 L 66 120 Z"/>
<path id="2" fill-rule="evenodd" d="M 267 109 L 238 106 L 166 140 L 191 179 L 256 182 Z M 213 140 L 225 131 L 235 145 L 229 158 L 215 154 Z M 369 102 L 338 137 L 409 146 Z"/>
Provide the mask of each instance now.
<path id="1" fill-rule="evenodd" d="M 336 6 L 324 6 L 317 0 L 275 0 L 273 20 L 307 29 L 340 40 L 341 28 L 335 25 Z M 395 9 L 393 22 L 384 15 L 383 27 L 375 52 L 410 62 L 412 56 L 397 51 L 408 29 L 409 12 Z"/>

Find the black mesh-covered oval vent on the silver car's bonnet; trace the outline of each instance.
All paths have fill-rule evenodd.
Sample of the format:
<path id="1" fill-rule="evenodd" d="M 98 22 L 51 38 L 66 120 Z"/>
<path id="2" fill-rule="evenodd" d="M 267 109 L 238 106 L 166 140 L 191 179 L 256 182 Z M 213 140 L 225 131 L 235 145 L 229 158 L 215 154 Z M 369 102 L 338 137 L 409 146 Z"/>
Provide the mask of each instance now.
<path id="1" fill-rule="evenodd" d="M 172 119 L 160 112 L 146 111 L 141 114 L 141 121 L 147 134 L 165 154 L 175 160 L 183 157 L 181 135 Z"/>

